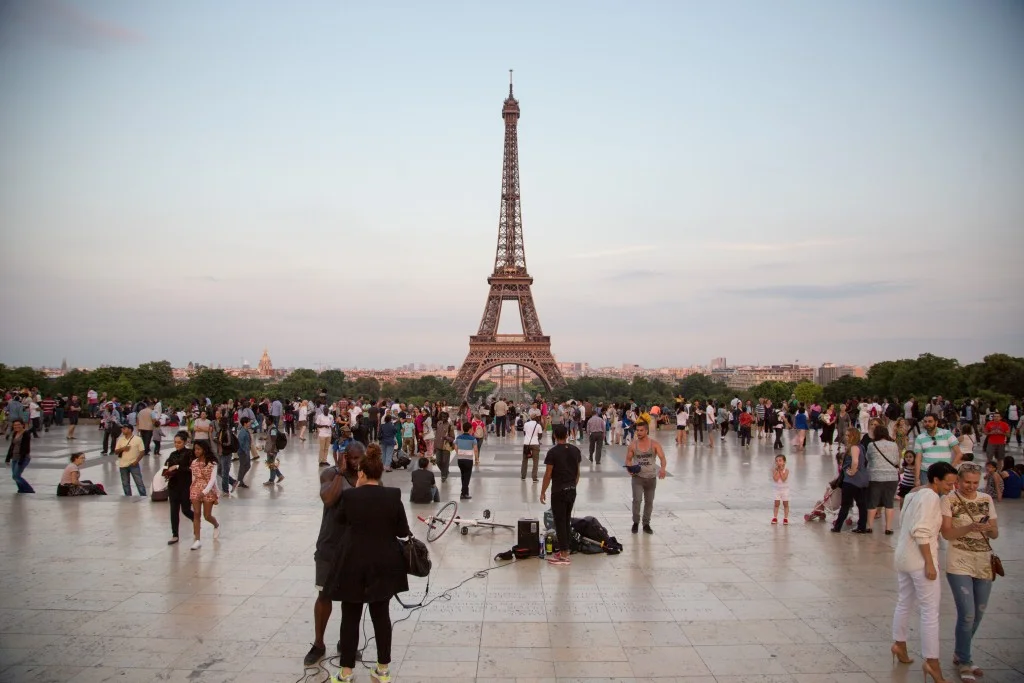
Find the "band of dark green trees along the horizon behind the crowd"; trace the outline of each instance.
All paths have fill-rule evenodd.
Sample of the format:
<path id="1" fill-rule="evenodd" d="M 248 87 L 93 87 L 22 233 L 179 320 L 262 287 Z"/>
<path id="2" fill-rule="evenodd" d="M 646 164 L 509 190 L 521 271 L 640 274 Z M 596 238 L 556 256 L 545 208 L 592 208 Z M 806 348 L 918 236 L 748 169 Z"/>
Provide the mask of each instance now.
<path id="1" fill-rule="evenodd" d="M 317 373 L 299 369 L 280 382 L 263 382 L 258 379 L 237 378 L 221 370 L 201 367 L 186 381 L 178 382 L 174 379 L 171 364 L 157 360 L 137 368 L 73 370 L 62 377 L 48 379 L 32 368 L 8 368 L 0 364 L 0 387 L 26 386 L 39 387 L 46 393 L 80 396 L 84 396 L 91 388 L 123 400 L 150 396 L 171 402 L 201 396 L 209 396 L 218 401 L 250 396 L 312 397 L 321 389 L 326 389 L 331 398 L 344 395 L 366 398 L 384 396 L 413 403 L 426 400 L 455 402 L 458 398 L 451 380 L 432 375 L 415 379 L 401 378 L 381 385 L 372 377 L 350 380 L 337 370 Z M 1006 403 L 1012 396 L 1024 396 L 1024 358 L 993 353 L 986 355 L 981 362 L 962 366 L 954 358 L 923 353 L 916 358 L 878 362 L 870 367 L 866 378 L 841 377 L 824 388 L 811 382 L 763 382 L 746 391 L 735 391 L 702 374 L 689 375 L 676 382 L 642 375 L 632 381 L 581 377 L 568 380 L 566 386 L 550 392 L 550 396 L 539 385 L 527 383 L 525 388 L 534 394 L 540 393 L 555 400 L 635 400 L 645 405 L 671 404 L 676 395 L 700 400 L 728 400 L 738 395 L 749 400 L 770 398 L 772 402 L 781 403 L 794 393 L 804 402 L 839 402 L 861 396 L 901 400 L 916 397 L 919 400 L 927 400 L 932 396 L 942 395 L 954 400 L 973 396 Z M 474 400 L 488 395 L 494 389 L 494 383 L 479 382 L 474 391 Z"/>

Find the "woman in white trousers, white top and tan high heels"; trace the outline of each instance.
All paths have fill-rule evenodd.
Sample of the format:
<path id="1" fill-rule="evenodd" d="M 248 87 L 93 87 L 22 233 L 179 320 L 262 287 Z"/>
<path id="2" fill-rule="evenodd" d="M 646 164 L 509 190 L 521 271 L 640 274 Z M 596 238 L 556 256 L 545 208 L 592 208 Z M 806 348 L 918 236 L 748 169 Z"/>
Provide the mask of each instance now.
<path id="1" fill-rule="evenodd" d="M 921 618 L 922 670 L 925 679 L 945 683 L 939 664 L 939 531 L 942 529 L 941 498 L 956 484 L 956 470 L 939 462 L 928 468 L 928 485 L 912 490 L 903 501 L 899 538 L 896 542 L 896 577 L 899 598 L 893 613 L 893 661 L 910 664 L 906 634 L 910 612 L 916 607 Z"/>

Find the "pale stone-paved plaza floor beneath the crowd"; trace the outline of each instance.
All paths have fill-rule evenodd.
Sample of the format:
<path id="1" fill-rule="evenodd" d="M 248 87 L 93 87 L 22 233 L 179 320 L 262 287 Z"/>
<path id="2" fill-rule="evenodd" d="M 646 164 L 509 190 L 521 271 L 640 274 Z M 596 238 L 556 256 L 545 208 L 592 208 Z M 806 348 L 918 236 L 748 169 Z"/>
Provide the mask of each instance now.
<path id="1" fill-rule="evenodd" d="M 124 498 L 116 465 L 99 456 L 99 432 L 82 427 L 83 479 L 105 498 L 57 499 L 70 453 L 62 431 L 33 444 L 26 476 L 35 496 L 0 484 L 0 681 L 98 683 L 195 681 L 292 683 L 313 637 L 313 544 L 321 518 L 315 446 L 293 442 L 286 481 L 253 487 L 215 508 L 222 536 L 204 528 L 204 547 L 168 547 L 168 506 Z M 600 468 L 584 460 L 578 515 L 597 516 L 625 545 L 614 557 L 577 555 L 570 567 L 515 562 L 474 580 L 422 610 L 395 604 L 395 680 L 685 681 L 686 683 L 871 683 L 921 680 L 893 667 L 894 537 L 833 535 L 803 514 L 833 476 L 833 458 L 813 438 L 806 455 L 786 453 L 792 470 L 788 527 L 771 526 L 771 450 L 741 452 L 734 435 L 715 449 L 657 437 L 670 476 L 658 483 L 655 533 L 630 533 L 630 485 L 611 447 Z M 170 438 L 165 440 L 171 445 Z M 724 447 L 723 447 L 724 445 Z M 1014 450 L 1014 455 L 1019 452 Z M 490 437 L 474 473 L 467 516 L 484 508 L 499 521 L 540 517 L 540 484 L 519 480 L 519 446 Z M 158 458 L 143 464 L 152 480 Z M 409 474 L 386 475 L 408 490 Z M 458 497 L 455 472 L 442 497 Z M 408 506 L 415 521 L 434 506 Z M 1024 531 L 1021 502 L 998 506 L 996 549 L 1008 578 L 996 582 L 975 641 L 983 681 L 1024 681 Z M 855 513 L 854 513 L 855 514 Z M 513 533 L 450 531 L 430 545 L 431 595 L 494 564 Z M 952 673 L 954 609 L 945 581 L 942 660 Z M 402 596 L 416 602 L 424 582 Z M 369 626 L 369 620 L 367 620 Z M 339 610 L 328 627 L 337 640 Z M 368 657 L 373 658 L 371 645 Z M 337 659 L 330 663 L 332 672 Z M 306 681 L 323 681 L 308 670 Z M 356 680 L 369 681 L 359 671 Z"/>

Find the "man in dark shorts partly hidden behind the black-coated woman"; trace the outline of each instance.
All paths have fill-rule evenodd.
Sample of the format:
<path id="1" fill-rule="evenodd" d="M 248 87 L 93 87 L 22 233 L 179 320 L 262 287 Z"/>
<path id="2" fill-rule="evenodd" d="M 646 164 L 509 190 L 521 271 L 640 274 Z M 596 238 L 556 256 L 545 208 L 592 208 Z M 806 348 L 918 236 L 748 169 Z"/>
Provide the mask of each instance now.
<path id="1" fill-rule="evenodd" d="M 335 466 L 325 467 L 321 470 L 321 501 L 324 503 L 324 516 L 321 520 L 321 532 L 316 538 L 316 551 L 313 553 L 313 560 L 316 563 L 316 602 L 313 603 L 314 636 L 312 647 L 309 648 L 305 659 L 302 660 L 306 667 L 315 666 L 327 653 L 324 633 L 327 631 L 327 623 L 331 618 L 333 604 L 331 598 L 326 595 L 324 587 L 335 569 L 335 558 L 340 555 L 339 546 L 344 527 L 338 520 L 339 503 L 343 490 L 355 487 L 359 461 L 366 453 L 367 449 L 360 441 L 350 440 L 343 452 L 335 453 Z M 342 454 L 344 455 L 342 456 Z M 341 469 L 342 457 L 344 457 L 344 471 Z M 338 651 L 341 651 L 340 643 Z"/>

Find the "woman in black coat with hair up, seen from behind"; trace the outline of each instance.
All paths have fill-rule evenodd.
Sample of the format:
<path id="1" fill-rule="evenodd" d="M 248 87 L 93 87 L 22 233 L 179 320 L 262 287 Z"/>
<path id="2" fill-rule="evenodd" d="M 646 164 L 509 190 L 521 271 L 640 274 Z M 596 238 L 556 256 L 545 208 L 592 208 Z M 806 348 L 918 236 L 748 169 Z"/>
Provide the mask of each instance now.
<path id="1" fill-rule="evenodd" d="M 331 600 L 341 601 L 341 673 L 351 680 L 359 642 L 362 606 L 369 603 L 377 639 L 377 672 L 386 678 L 391 664 L 391 598 L 409 590 L 399 538 L 412 536 L 401 490 L 382 486 L 381 449 L 367 449 L 359 463 L 356 488 L 341 495 L 338 522 L 344 526 L 341 554 L 325 586 Z"/>

